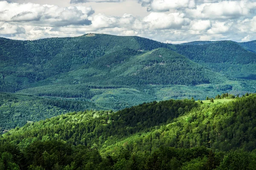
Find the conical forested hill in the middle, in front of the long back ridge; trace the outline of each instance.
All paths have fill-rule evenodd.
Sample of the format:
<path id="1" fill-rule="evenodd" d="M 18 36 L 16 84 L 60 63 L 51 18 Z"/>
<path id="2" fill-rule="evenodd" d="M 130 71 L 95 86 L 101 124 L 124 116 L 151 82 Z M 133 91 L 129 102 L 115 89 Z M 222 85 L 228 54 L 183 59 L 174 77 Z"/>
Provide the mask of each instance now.
<path id="1" fill-rule="evenodd" d="M 131 51 L 127 55 L 120 51 L 113 55 L 106 54 L 84 65 L 84 68 L 46 79 L 45 82 L 69 84 L 76 80 L 79 83 L 140 88 L 143 85 L 198 85 L 227 80 L 227 77 L 166 48 L 130 54 Z"/>

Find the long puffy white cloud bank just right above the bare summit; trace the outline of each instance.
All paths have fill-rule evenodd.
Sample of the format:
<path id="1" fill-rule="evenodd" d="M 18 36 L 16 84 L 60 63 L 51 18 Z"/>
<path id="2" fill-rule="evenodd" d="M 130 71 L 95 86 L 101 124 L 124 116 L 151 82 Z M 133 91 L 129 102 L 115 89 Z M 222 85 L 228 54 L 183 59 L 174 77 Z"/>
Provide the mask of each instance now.
<path id="1" fill-rule="evenodd" d="M 128 28 L 128 29 L 178 29 L 189 24 L 190 20 L 180 13 L 156 13 L 151 12 L 142 19 L 137 19 L 131 14 L 122 17 L 111 17 L 105 14 L 97 14 L 90 17 L 91 28 Z"/>

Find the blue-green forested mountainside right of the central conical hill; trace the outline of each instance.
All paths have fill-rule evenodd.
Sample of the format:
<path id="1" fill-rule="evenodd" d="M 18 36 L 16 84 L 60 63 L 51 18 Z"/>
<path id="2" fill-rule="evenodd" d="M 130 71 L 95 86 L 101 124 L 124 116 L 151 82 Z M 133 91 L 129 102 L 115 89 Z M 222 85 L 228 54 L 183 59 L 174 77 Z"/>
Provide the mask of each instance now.
<path id="1" fill-rule="evenodd" d="M 239 79 L 256 79 L 256 53 L 253 42 L 189 42 L 172 47 L 179 54 L 222 74 Z M 244 47 L 244 48 L 243 48 Z M 247 48 L 248 47 L 248 48 Z"/>

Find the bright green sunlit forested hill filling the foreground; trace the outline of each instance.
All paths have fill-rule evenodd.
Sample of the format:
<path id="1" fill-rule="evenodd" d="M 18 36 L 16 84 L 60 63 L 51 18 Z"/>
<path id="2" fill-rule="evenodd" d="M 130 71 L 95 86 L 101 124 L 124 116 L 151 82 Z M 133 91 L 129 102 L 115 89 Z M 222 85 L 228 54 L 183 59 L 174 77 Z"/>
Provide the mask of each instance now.
<path id="1" fill-rule="evenodd" d="M 151 102 L 28 123 L 0 138 L 0 167 L 253 170 L 256 94 L 223 100 Z"/>

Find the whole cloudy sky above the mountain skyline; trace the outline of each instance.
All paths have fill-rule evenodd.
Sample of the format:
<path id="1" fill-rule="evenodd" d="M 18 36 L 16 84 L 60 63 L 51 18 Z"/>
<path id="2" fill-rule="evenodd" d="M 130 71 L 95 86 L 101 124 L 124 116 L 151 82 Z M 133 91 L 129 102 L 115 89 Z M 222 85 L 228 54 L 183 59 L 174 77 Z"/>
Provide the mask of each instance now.
<path id="1" fill-rule="evenodd" d="M 0 37 L 88 33 L 168 43 L 256 40 L 256 0 L 0 0 Z"/>

